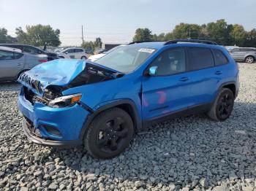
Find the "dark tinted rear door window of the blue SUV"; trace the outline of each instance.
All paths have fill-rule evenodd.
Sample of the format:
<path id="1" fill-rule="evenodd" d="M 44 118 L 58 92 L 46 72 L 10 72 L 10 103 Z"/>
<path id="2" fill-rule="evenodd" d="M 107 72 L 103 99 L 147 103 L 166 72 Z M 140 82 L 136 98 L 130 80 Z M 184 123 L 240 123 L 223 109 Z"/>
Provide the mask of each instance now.
<path id="1" fill-rule="evenodd" d="M 206 69 L 214 66 L 214 57 L 208 48 L 192 47 L 189 50 L 189 71 Z"/>

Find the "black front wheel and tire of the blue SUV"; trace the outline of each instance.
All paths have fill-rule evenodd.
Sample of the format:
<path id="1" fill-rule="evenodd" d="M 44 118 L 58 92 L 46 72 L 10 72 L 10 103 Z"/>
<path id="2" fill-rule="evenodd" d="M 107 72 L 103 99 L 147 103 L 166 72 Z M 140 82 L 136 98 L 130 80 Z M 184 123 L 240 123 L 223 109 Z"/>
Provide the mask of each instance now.
<path id="1" fill-rule="evenodd" d="M 113 108 L 100 113 L 89 125 L 84 144 L 96 158 L 116 157 L 129 146 L 134 134 L 133 122 L 123 109 Z"/>

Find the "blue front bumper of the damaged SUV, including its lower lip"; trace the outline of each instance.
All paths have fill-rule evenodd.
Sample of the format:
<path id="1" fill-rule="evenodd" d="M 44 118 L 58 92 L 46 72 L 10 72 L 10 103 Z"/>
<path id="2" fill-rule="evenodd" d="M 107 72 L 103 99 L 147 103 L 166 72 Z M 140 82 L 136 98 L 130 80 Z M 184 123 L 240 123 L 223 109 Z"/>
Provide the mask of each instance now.
<path id="1" fill-rule="evenodd" d="M 32 105 L 26 99 L 23 87 L 18 96 L 18 109 L 26 118 L 23 122 L 26 136 L 35 143 L 48 146 L 79 144 L 81 130 L 89 115 L 89 112 L 78 104 L 65 108 L 51 108 L 39 102 Z M 36 134 L 31 131 L 32 128 Z"/>

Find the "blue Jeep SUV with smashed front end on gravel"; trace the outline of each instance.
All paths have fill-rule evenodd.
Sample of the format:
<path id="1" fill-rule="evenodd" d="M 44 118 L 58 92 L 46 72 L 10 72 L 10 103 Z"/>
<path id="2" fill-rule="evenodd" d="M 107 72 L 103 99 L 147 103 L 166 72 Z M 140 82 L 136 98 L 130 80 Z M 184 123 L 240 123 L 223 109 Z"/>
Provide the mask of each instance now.
<path id="1" fill-rule="evenodd" d="M 202 40 L 133 42 L 97 63 L 61 59 L 21 75 L 18 108 L 38 144 L 83 145 L 97 158 L 129 146 L 155 122 L 205 112 L 224 121 L 238 95 L 238 66 L 225 47 Z"/>

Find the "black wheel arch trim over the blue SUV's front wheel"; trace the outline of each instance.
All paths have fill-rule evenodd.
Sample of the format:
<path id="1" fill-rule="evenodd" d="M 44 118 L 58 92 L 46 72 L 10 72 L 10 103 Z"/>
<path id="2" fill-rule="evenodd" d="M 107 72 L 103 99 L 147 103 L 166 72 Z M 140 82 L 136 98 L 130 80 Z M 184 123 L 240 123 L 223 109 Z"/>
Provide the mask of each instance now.
<path id="1" fill-rule="evenodd" d="M 110 109 L 110 108 L 113 108 L 115 106 L 120 106 L 121 104 L 129 104 L 129 106 L 132 107 L 132 110 L 133 110 L 133 113 L 134 113 L 134 122 L 135 122 L 135 132 L 138 132 L 138 130 L 140 130 L 142 128 L 142 121 L 140 120 L 140 117 L 139 117 L 139 114 L 138 114 L 138 109 L 137 107 L 135 106 L 135 103 L 130 100 L 130 99 L 118 99 L 116 101 L 111 101 L 110 103 L 108 104 L 105 104 L 103 106 L 99 106 L 97 108 L 97 110 L 95 110 L 94 112 L 92 112 L 91 114 L 89 114 L 88 117 L 86 117 L 86 120 L 83 124 L 83 128 L 80 132 L 80 137 L 79 139 L 81 141 L 83 141 L 83 137 L 85 136 L 86 134 L 86 130 L 88 128 L 88 126 L 91 124 L 92 120 L 94 120 L 94 117 L 97 116 L 97 114 L 99 114 L 100 112 L 103 112 L 107 109 Z"/>

